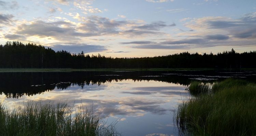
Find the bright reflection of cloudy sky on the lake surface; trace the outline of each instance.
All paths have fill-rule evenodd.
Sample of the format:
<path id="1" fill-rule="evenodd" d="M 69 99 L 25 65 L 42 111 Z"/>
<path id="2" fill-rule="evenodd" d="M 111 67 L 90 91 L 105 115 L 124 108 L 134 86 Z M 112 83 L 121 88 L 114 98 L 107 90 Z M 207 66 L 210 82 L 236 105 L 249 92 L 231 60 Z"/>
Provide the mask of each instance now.
<path id="1" fill-rule="evenodd" d="M 93 111 L 99 111 L 101 118 L 124 118 L 121 122 L 131 123 L 131 118 L 137 118 L 142 122 L 145 120 L 142 117 L 146 117 L 147 120 L 151 120 L 145 115 L 154 116 L 168 116 L 168 122 L 166 124 L 172 124 L 172 114 L 174 111 L 174 105 L 181 96 L 185 96 L 184 86 L 164 83 L 159 81 L 138 81 L 133 80 L 126 81 L 113 81 L 107 82 L 101 85 L 84 86 L 70 86 L 66 89 L 55 88 L 53 91 L 43 92 L 42 94 L 34 96 L 22 96 L 20 99 L 5 98 L 4 95 L 0 97 L 8 101 L 11 105 L 17 103 L 23 103 L 27 100 L 38 101 L 42 103 L 52 103 L 58 101 L 68 101 L 69 105 L 75 107 L 83 104 L 88 109 Z M 165 97 L 162 97 L 165 96 Z M 165 117 L 166 118 L 166 117 Z M 166 120 L 166 119 L 165 119 Z M 161 120 L 159 120 L 161 123 Z M 150 123 L 154 123 L 151 121 Z M 120 123 L 120 122 L 119 122 Z M 121 124 L 121 123 L 120 123 Z M 122 127 L 122 125 L 120 126 Z M 139 127 L 134 124 L 132 127 Z M 173 126 L 159 126 L 157 124 L 150 125 L 148 127 L 152 130 L 156 129 L 155 134 L 159 127 L 162 131 L 171 133 L 170 130 Z M 134 129 L 134 128 L 133 128 Z M 145 128 L 146 129 L 146 128 Z M 146 133 L 146 130 L 143 130 Z M 137 133 L 134 131 L 133 133 Z M 146 134 L 144 134 L 146 135 Z"/>

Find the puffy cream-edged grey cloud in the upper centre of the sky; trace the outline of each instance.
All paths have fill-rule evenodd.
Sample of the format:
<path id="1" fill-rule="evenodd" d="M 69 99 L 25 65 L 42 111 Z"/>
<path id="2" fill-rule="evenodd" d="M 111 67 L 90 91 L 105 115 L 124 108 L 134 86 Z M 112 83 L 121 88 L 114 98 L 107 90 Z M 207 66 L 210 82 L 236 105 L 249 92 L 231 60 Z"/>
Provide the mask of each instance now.
<path id="1" fill-rule="evenodd" d="M 132 27 L 128 27 L 131 26 Z M 129 35 L 129 36 L 141 36 L 144 34 L 163 34 L 159 31 L 164 27 L 175 26 L 175 23 L 171 25 L 165 24 L 163 21 L 153 22 L 150 24 L 138 25 L 132 21 L 116 21 L 105 17 L 99 16 L 88 16 L 84 23 L 81 23 L 77 28 L 80 31 L 87 33 L 89 36 L 100 36 L 100 35 Z M 121 29 L 122 28 L 122 29 Z M 126 29 L 123 29 L 126 28 Z"/>

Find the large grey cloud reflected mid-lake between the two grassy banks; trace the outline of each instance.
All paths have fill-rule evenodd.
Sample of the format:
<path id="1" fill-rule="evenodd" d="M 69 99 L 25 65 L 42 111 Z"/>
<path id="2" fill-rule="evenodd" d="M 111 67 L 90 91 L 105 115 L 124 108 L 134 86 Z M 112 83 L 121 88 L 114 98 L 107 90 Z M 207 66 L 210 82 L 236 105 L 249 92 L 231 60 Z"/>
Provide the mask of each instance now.
<path id="1" fill-rule="evenodd" d="M 58 96 L 63 99 L 67 96 Z M 76 98 L 80 99 L 81 96 L 70 95 L 69 99 Z M 53 98 L 52 98 L 53 99 Z M 146 99 L 143 97 L 122 97 L 115 100 L 96 100 L 96 99 L 81 99 L 77 102 L 77 105 L 83 103 L 90 109 L 91 102 L 93 102 L 93 108 L 95 111 L 100 111 L 100 116 L 103 118 L 115 115 L 132 115 L 140 116 L 145 112 L 150 112 L 156 115 L 163 115 L 166 112 L 171 111 L 171 109 L 166 109 L 161 107 L 161 104 L 166 103 L 166 101 L 158 99 Z"/>

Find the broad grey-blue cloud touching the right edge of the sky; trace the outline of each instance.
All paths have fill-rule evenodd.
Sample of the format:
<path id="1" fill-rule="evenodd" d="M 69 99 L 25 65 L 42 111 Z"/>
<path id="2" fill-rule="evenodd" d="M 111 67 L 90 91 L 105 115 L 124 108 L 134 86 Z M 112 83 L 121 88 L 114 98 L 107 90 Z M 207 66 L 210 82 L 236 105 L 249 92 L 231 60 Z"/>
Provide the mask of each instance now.
<path id="1" fill-rule="evenodd" d="M 186 23 L 185 26 L 198 32 L 208 30 L 208 32 L 212 31 L 222 35 L 230 35 L 230 38 L 253 39 L 256 38 L 256 12 L 245 14 L 239 19 L 231 19 L 227 17 L 203 17 L 194 19 Z M 227 38 L 228 37 L 226 37 L 226 39 Z"/>

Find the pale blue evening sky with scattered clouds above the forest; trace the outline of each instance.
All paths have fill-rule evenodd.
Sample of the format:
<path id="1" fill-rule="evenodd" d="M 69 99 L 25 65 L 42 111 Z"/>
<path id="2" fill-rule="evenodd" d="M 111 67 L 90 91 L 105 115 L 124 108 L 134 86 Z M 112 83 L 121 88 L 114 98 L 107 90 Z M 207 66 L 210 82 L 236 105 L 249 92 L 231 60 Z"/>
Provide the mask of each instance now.
<path id="1" fill-rule="evenodd" d="M 0 44 L 112 57 L 256 50 L 256 0 L 0 0 Z"/>

